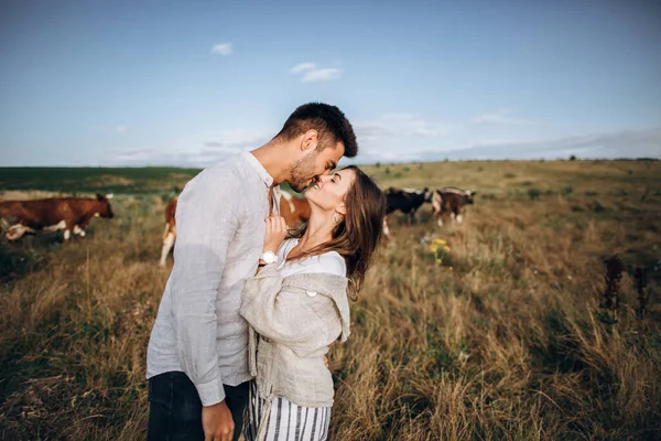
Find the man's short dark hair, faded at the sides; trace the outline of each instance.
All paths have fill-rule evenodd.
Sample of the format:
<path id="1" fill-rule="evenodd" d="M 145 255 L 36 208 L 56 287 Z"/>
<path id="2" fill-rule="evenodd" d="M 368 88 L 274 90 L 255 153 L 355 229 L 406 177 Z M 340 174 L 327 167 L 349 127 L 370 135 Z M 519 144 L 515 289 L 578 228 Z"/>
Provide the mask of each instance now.
<path id="1" fill-rule="evenodd" d="M 300 106 L 284 121 L 282 130 L 275 136 L 284 140 L 292 140 L 307 130 L 318 132 L 318 150 L 340 142 L 345 147 L 345 157 L 354 158 L 358 154 L 358 142 L 351 123 L 342 110 L 324 103 L 308 103 Z"/>

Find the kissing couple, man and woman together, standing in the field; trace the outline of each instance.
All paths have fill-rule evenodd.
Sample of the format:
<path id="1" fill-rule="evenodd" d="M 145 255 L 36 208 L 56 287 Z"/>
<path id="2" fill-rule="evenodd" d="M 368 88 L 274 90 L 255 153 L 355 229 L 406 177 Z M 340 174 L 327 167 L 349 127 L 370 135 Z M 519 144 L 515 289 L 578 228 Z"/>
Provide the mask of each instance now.
<path id="1" fill-rule="evenodd" d="M 328 174 L 357 153 L 345 115 L 312 103 L 264 146 L 186 184 L 148 348 L 149 440 L 327 439 L 325 354 L 349 335 L 348 297 L 386 214 L 360 169 Z M 282 182 L 310 202 L 295 230 L 279 215 Z"/>

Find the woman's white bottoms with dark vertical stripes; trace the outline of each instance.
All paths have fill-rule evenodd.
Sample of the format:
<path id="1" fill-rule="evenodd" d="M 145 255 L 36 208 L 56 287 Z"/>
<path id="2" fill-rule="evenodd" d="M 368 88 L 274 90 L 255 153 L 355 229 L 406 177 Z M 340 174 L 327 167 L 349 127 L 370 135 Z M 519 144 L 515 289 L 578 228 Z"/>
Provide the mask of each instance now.
<path id="1" fill-rule="evenodd" d="M 267 400 L 259 396 L 257 385 L 250 381 L 250 401 L 243 419 L 246 441 L 258 441 L 257 432 L 263 418 Z M 325 441 L 330 424 L 329 407 L 301 407 L 286 398 L 275 397 L 266 422 L 264 440 L 269 441 Z M 259 440 L 261 441 L 261 440 Z"/>

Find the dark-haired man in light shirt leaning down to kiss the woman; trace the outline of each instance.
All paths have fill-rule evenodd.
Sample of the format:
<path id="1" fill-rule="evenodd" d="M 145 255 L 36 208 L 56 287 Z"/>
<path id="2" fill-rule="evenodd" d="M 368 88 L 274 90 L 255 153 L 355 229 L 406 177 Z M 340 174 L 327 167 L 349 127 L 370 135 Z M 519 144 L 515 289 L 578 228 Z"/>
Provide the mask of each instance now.
<path id="1" fill-rule="evenodd" d="M 238 440 L 248 401 L 241 290 L 254 275 L 278 184 L 302 192 L 358 153 L 335 106 L 299 107 L 267 144 L 204 170 L 176 211 L 177 244 L 147 356 L 148 440 Z M 275 251 L 275 250 L 273 250 Z"/>

